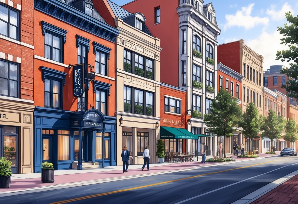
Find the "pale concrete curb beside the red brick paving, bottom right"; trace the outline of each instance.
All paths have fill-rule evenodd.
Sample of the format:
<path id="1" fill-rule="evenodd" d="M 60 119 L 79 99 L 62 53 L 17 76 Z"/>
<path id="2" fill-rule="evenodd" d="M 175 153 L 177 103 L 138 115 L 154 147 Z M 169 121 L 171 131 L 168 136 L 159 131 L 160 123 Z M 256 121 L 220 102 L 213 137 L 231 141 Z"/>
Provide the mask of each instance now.
<path id="1" fill-rule="evenodd" d="M 244 196 L 243 198 L 240 198 L 239 200 L 237 200 L 237 201 L 235 201 L 234 203 L 231 203 L 231 204 L 249 204 L 249 203 L 252 203 L 255 200 L 257 200 L 258 198 L 260 198 L 263 195 L 265 195 L 266 193 L 268 193 L 269 191 L 275 189 L 277 186 L 285 183 L 286 181 L 288 181 L 290 178 L 292 178 L 293 176 L 295 176 L 297 174 L 298 174 L 298 170 L 284 176 L 283 178 L 279 178 L 279 179 L 267 184 L 266 186 L 263 186 L 263 187 L 257 189 L 256 191 Z"/>

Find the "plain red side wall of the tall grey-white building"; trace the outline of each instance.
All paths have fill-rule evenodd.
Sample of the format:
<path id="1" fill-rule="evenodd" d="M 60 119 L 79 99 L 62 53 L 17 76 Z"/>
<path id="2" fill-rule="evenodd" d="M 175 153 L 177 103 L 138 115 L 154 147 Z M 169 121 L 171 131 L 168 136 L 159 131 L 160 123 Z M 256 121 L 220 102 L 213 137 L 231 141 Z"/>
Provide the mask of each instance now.
<path id="1" fill-rule="evenodd" d="M 141 12 L 146 26 L 154 37 L 158 37 L 160 53 L 160 81 L 179 86 L 179 18 L 176 8 L 179 1 L 136 0 L 122 6 L 131 13 Z M 160 23 L 155 23 L 155 8 L 160 6 Z M 169 77 L 170 75 L 170 77 Z"/>

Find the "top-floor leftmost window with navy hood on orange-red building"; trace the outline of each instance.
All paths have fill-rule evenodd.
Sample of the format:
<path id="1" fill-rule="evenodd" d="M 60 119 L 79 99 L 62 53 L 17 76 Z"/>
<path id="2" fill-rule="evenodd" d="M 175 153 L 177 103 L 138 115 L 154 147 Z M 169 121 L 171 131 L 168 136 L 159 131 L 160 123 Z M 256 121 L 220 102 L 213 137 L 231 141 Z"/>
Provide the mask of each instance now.
<path id="1" fill-rule="evenodd" d="M 63 63 L 63 43 L 66 43 L 68 31 L 41 21 L 44 35 L 44 57 Z"/>

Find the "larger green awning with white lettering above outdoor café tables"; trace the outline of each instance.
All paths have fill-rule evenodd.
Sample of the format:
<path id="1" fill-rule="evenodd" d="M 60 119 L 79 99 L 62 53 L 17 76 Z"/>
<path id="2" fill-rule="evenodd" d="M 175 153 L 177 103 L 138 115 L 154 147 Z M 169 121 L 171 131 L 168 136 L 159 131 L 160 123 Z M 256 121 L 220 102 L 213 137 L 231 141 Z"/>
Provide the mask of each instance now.
<path id="1" fill-rule="evenodd" d="M 197 135 L 192 134 L 184 128 L 171 128 L 160 126 L 160 139 L 199 139 Z"/>

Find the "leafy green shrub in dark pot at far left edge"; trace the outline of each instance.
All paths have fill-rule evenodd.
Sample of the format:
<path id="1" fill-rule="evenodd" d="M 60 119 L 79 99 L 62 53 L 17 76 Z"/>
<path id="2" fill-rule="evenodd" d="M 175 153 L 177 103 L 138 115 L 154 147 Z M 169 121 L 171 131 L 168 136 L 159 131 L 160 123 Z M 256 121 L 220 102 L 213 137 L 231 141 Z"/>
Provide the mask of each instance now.
<path id="1" fill-rule="evenodd" d="M 0 188 L 9 188 L 11 181 L 11 161 L 5 157 L 0 158 Z"/>

